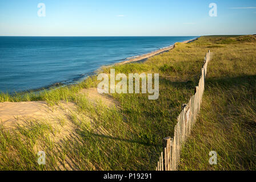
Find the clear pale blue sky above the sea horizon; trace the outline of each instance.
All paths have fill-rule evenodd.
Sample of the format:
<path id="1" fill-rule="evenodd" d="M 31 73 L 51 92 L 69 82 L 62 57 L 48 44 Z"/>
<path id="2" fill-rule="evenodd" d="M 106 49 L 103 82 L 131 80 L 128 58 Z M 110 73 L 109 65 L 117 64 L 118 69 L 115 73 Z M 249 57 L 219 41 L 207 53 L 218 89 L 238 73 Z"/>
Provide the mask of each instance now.
<path id="1" fill-rule="evenodd" d="M 38 3 L 46 16 L 39 17 Z M 209 4 L 217 4 L 217 17 Z M 0 0 L 0 36 L 256 34 L 255 0 Z"/>

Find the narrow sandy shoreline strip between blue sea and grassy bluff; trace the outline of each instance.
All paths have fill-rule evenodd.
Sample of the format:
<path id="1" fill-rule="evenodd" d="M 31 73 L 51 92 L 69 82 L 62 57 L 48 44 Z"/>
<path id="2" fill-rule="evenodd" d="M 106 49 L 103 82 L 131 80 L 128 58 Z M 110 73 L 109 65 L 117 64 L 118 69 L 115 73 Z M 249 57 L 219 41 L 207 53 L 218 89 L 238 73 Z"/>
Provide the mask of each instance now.
<path id="1" fill-rule="evenodd" d="M 200 38 L 200 37 L 198 37 L 198 38 Z M 190 43 L 190 42 L 193 42 L 193 41 L 197 40 L 198 38 L 190 39 L 190 40 L 185 40 L 183 42 L 175 42 L 171 46 L 163 47 L 163 48 L 157 49 L 155 51 L 152 51 L 152 52 L 149 52 L 149 53 L 145 53 L 143 55 L 137 55 L 137 56 L 128 57 L 128 58 L 126 58 L 125 61 L 121 61 L 119 63 L 114 63 L 114 64 L 110 64 L 110 65 L 102 65 L 101 67 L 96 69 L 94 72 L 91 72 L 91 73 L 88 73 L 88 74 L 83 74 L 83 75 L 86 75 L 85 77 L 81 77 L 81 78 L 77 78 L 77 79 L 73 78 L 73 80 L 71 80 L 71 81 L 66 80 L 66 81 L 61 81 L 61 82 L 55 82 L 53 84 L 50 84 L 50 85 L 47 85 L 47 86 L 43 86 L 43 87 L 37 88 L 37 89 L 29 89 L 29 90 L 24 90 L 24 91 L 21 91 L 21 92 L 13 92 L 13 93 L 6 92 L 6 93 L 9 93 L 11 96 L 13 96 L 16 93 L 21 93 L 21 94 L 26 94 L 26 93 L 30 93 L 30 92 L 36 93 L 36 92 L 41 92 L 43 90 L 49 90 L 49 89 L 53 89 L 53 88 L 57 89 L 57 88 L 61 88 L 61 87 L 64 87 L 64 86 L 75 85 L 75 84 L 78 84 L 79 82 L 85 81 L 90 76 L 96 75 L 97 72 L 102 67 L 111 67 L 113 65 L 122 65 L 122 64 L 127 64 L 127 63 L 143 63 L 144 61 L 149 59 L 149 57 L 158 55 L 158 54 L 166 52 L 166 51 L 170 51 L 171 49 L 175 48 L 175 44 L 176 43 Z"/>

